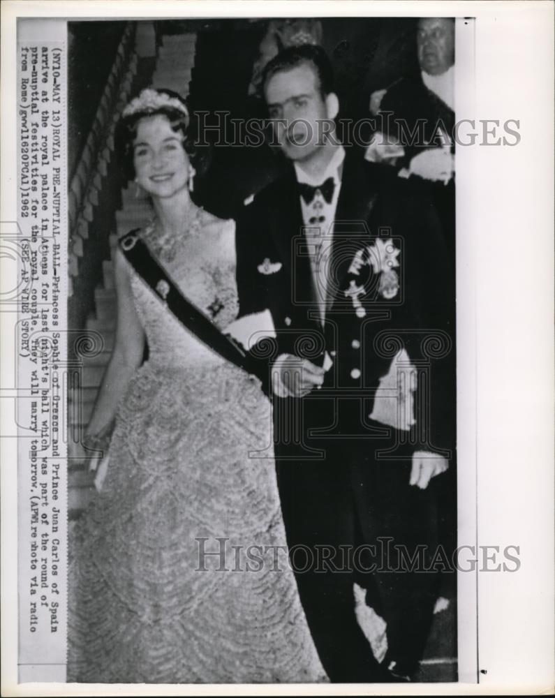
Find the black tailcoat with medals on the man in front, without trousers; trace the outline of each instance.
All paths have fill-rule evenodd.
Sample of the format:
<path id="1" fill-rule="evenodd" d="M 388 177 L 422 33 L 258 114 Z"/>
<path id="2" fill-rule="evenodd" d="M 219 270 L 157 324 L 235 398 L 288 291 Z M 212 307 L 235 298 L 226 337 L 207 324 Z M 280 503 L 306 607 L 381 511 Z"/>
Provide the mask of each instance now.
<path id="1" fill-rule="evenodd" d="M 336 423 L 330 440 L 344 436 L 350 447 L 353 441 L 376 436 L 378 427 L 364 415 L 372 412 L 379 379 L 390 369 L 394 354 L 406 348 L 421 378 L 410 453 L 418 448 L 449 457 L 454 448 L 452 241 L 445 237 L 429 198 L 422 193 L 410 195 L 404 181 L 399 181 L 397 191 L 380 192 L 379 182 L 371 179 L 375 172 L 362 158 L 346 157 L 327 265 L 330 299 L 325 327 L 314 302 L 293 168 L 259 193 L 239 221 L 240 314 L 271 311 L 277 341 L 266 357 L 268 367 L 282 353 L 320 365 L 325 351 L 329 353 L 333 366 L 326 373 L 323 389 L 303 400 L 306 429 L 324 430 Z M 383 248 L 390 241 L 393 263 L 398 265 L 390 271 L 398 277 L 398 288 L 394 292 L 393 285 L 384 295 L 382 274 L 376 274 L 369 262 L 375 258 L 376 247 Z M 368 251 L 372 247 L 373 253 Z M 360 251 L 366 264 L 357 273 L 353 260 Z M 266 260 L 270 266 L 265 269 Z M 276 265 L 279 269 L 274 271 Z M 355 288 L 364 287 L 364 293 L 357 295 L 359 314 L 352 296 L 346 295 L 353 283 Z M 267 374 L 264 382 L 269 384 Z M 359 408 L 362 415 L 353 424 L 353 410 Z"/>

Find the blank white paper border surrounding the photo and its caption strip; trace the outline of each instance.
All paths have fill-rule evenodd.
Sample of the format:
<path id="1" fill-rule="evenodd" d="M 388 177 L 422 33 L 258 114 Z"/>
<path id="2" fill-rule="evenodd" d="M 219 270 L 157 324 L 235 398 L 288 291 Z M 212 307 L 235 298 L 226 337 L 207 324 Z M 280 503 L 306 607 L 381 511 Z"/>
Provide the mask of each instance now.
<path id="1" fill-rule="evenodd" d="M 517 573 L 477 578 L 476 657 L 480 683 L 404 687 L 406 695 L 551 692 L 554 683 L 554 6 L 549 2 L 289 3 L 248 0 L 4 1 L 1 7 L 1 214 L 17 220 L 15 47 L 17 16 L 73 19 L 232 16 L 475 17 L 475 89 L 470 119 L 518 119 L 517 147 L 457 151 L 457 385 L 459 540 L 520 548 Z M 459 117 L 460 118 L 460 117 Z M 466 179 L 464 172 L 471 173 Z M 463 237 L 465 235 L 465 237 Z M 468 235 L 468 237 L 466 237 Z M 10 269 L 3 264 L 3 272 Z M 473 299 L 470 303 L 469 297 Z M 0 386 L 10 386 L 13 318 L 0 313 Z M 6 388 L 7 390 L 7 388 Z M 11 424 L 8 401 L 1 422 Z M 464 406 L 464 408 L 463 408 Z M 2 431 L 2 433 L 6 433 Z M 16 443 L 0 440 L 2 496 L 3 695 L 108 695 L 114 687 L 17 685 Z M 464 493 L 464 494 L 463 494 Z M 462 495 L 462 496 L 461 496 Z M 468 511 L 467 497 L 474 497 Z M 464 500 L 464 501 L 463 501 Z M 472 523 L 472 519 L 475 524 Z M 466 540 L 464 540 L 466 542 Z M 459 584 L 471 583 L 467 575 Z M 459 593 L 460 598 L 460 593 Z M 10 641 L 11 639 L 11 641 Z M 459 637 L 459 658 L 463 646 Z M 471 664 L 471 658 L 468 659 Z M 226 695 L 335 695 L 330 686 L 219 686 Z M 213 695 L 209 685 L 129 685 L 119 695 Z M 345 695 L 373 688 L 343 687 Z M 380 693 L 394 695 L 394 687 Z"/>

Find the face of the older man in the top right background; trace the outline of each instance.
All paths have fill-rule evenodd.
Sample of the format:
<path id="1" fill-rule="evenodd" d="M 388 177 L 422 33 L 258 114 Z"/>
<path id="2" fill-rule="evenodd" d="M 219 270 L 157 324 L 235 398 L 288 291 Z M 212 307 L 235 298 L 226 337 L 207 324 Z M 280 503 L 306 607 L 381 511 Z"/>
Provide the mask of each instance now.
<path id="1" fill-rule="evenodd" d="M 454 21 L 426 17 L 418 22 L 418 62 L 424 73 L 441 75 L 454 64 Z"/>

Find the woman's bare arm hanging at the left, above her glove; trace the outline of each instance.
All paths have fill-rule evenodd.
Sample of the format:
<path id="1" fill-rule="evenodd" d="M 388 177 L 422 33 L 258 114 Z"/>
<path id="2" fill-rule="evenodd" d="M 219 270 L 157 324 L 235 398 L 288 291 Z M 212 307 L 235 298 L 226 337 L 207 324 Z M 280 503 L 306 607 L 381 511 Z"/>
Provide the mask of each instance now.
<path id="1" fill-rule="evenodd" d="M 114 251 L 114 276 L 117 295 L 114 348 L 87 426 L 87 436 L 96 436 L 110 427 L 145 350 L 145 331 L 133 302 L 128 262 L 119 247 Z"/>

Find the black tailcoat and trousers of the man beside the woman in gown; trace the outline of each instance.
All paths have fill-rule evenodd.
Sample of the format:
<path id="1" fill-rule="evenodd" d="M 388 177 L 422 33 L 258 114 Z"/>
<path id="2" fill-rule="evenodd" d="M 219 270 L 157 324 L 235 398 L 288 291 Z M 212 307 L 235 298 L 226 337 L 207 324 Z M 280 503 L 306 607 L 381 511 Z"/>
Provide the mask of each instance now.
<path id="1" fill-rule="evenodd" d="M 452 245 L 431 202 L 402 189 L 380 192 L 375 171 L 354 153 L 346 155 L 324 327 L 294 169 L 258 193 L 237 225 L 240 314 L 269 309 L 276 327 L 276 346 L 255 350 L 269 392 L 269 368 L 283 353 L 322 365 L 327 352 L 333 362 L 322 389 L 303 399 L 274 399 L 274 442 L 290 548 L 331 546 L 338 562 L 341 545 L 369 544 L 382 535 L 408 545 L 437 542 L 436 482 L 425 491 L 409 487 L 410 463 L 415 450 L 440 452 L 454 463 Z M 384 249 L 389 255 L 376 257 Z M 353 288 L 354 302 L 346 294 Z M 401 348 L 418 372 L 410 431 L 369 417 L 380 378 Z M 355 620 L 353 579 L 367 587 L 371 605 L 383 604 L 397 658 L 420 658 L 431 620 L 429 575 L 390 574 L 382 583 L 380 575 L 370 580 L 359 572 L 297 574 L 332 681 L 376 680 L 376 663 Z"/>

